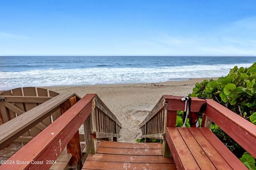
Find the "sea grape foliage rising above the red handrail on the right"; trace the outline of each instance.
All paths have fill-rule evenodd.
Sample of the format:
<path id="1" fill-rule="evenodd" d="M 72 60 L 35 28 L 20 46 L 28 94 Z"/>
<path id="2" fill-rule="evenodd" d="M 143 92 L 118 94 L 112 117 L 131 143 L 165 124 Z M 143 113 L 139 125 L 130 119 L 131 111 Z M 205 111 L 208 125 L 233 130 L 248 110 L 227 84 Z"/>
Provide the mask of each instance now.
<path id="1" fill-rule="evenodd" d="M 192 97 L 212 98 L 246 120 L 256 124 L 256 63 L 249 68 L 235 66 L 226 77 L 196 83 Z"/>

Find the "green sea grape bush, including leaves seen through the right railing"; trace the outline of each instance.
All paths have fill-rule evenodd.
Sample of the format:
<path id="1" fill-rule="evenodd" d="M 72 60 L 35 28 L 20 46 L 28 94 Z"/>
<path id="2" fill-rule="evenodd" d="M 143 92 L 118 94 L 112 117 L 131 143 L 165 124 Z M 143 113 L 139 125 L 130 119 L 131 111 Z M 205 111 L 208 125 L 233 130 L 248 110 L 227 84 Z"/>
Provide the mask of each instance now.
<path id="1" fill-rule="evenodd" d="M 211 98 L 256 125 L 256 63 L 249 68 L 235 66 L 226 77 L 196 83 L 191 97 Z M 178 118 L 177 118 L 178 120 Z M 177 122 L 177 126 L 180 125 Z M 255 159 L 234 140 L 212 124 L 211 129 L 249 169 L 256 169 Z M 243 154 L 243 155 L 242 155 Z"/>

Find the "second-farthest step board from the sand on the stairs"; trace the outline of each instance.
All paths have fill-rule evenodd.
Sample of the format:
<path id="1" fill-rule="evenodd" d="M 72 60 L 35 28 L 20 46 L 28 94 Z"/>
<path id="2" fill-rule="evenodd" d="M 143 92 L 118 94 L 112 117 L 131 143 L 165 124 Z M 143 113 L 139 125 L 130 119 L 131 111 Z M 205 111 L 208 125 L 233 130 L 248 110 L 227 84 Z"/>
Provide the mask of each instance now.
<path id="1" fill-rule="evenodd" d="M 163 155 L 162 149 L 125 149 L 98 147 L 97 153 L 115 155 Z"/>

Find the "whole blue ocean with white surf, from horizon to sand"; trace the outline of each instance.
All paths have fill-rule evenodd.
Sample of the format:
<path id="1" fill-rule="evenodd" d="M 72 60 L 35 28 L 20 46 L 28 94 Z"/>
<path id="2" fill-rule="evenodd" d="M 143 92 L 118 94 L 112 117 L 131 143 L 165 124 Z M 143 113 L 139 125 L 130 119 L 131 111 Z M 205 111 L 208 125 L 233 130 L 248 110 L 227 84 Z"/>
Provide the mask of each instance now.
<path id="1" fill-rule="evenodd" d="M 0 90 L 221 77 L 256 57 L 0 56 Z"/>

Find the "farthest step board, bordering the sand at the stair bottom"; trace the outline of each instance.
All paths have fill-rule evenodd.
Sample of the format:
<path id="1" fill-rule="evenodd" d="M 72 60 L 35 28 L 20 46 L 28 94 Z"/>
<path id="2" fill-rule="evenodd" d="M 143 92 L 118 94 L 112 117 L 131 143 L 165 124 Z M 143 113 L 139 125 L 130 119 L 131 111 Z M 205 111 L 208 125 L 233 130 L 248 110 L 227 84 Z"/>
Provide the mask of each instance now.
<path id="1" fill-rule="evenodd" d="M 124 148 L 124 149 L 162 149 L 162 143 L 128 143 L 101 141 L 98 147 L 106 148 Z"/>

